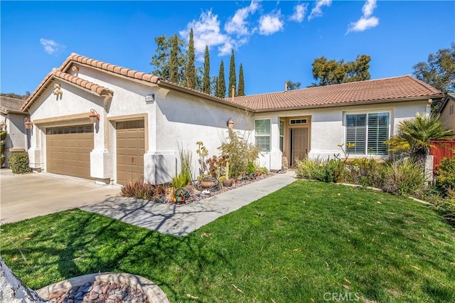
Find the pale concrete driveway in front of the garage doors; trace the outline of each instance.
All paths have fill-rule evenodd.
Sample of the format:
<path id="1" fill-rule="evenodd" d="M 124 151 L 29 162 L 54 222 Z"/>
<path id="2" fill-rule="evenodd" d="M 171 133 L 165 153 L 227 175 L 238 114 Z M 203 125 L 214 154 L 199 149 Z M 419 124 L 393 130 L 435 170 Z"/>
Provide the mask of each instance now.
<path id="1" fill-rule="evenodd" d="M 88 206 L 119 196 L 120 186 L 57 174 L 11 173 L 0 170 L 0 223 Z"/>

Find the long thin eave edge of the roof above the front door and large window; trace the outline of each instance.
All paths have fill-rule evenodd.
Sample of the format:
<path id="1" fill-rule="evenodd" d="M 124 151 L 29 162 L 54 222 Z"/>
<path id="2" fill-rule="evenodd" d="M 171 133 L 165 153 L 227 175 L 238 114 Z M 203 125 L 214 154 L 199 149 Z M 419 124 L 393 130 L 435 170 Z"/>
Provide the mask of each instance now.
<path id="1" fill-rule="evenodd" d="M 319 109 L 319 108 L 346 107 L 346 106 L 353 106 L 353 105 L 371 105 L 371 104 L 384 104 L 384 103 L 390 103 L 390 102 L 424 101 L 424 100 L 436 99 L 436 98 L 440 98 L 440 97 L 443 97 L 443 96 L 429 95 L 429 96 L 407 97 L 407 98 L 397 98 L 397 99 L 355 101 L 355 102 L 335 103 L 335 104 L 328 104 L 328 105 L 280 107 L 280 108 L 271 108 L 271 109 L 265 109 L 265 110 L 256 110 L 256 112 L 284 112 L 287 110 L 314 110 L 314 109 Z"/>

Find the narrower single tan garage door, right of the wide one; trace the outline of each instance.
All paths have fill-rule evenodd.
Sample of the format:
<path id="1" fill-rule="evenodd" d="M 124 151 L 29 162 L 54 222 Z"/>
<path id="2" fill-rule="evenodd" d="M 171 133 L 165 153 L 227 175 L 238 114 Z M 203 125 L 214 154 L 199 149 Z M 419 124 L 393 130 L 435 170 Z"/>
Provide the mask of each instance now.
<path id="1" fill-rule="evenodd" d="M 144 120 L 117 122 L 117 183 L 144 181 Z"/>

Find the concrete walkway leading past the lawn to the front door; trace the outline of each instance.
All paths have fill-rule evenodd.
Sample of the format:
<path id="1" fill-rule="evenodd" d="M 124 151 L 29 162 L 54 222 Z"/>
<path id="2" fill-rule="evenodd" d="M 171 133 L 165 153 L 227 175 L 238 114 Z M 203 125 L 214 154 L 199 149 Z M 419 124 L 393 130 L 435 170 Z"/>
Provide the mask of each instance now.
<path id="1" fill-rule="evenodd" d="M 171 235 L 188 235 L 193 230 L 236 211 L 252 201 L 279 190 L 294 179 L 294 172 L 276 174 L 267 179 L 225 191 L 201 201 L 181 206 L 114 197 L 101 203 L 80 207 L 83 211 L 122 220 L 125 223 Z"/>

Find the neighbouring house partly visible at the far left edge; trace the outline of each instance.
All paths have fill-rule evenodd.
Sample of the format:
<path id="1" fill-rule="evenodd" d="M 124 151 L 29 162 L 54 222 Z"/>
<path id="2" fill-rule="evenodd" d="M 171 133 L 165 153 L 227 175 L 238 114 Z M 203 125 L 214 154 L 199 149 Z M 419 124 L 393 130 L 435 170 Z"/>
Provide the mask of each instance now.
<path id="1" fill-rule="evenodd" d="M 5 143 L 5 164 L 9 167 L 9 155 L 16 151 L 26 151 L 28 147 L 24 119 L 28 115 L 21 111 L 22 99 L 0 97 L 0 129 L 7 132 Z"/>

